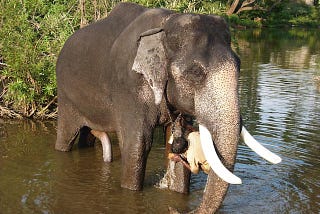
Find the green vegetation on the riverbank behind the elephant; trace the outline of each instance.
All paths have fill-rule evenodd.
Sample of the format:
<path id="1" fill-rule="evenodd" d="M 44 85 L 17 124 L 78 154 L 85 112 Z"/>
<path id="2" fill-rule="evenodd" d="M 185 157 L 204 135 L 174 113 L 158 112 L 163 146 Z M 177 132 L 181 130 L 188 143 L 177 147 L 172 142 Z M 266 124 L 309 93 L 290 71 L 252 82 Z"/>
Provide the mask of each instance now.
<path id="1" fill-rule="evenodd" d="M 0 0 L 0 117 L 56 116 L 55 63 L 78 28 L 120 0 Z M 319 8 L 289 0 L 133 0 L 147 7 L 218 14 L 234 27 L 320 26 Z"/>

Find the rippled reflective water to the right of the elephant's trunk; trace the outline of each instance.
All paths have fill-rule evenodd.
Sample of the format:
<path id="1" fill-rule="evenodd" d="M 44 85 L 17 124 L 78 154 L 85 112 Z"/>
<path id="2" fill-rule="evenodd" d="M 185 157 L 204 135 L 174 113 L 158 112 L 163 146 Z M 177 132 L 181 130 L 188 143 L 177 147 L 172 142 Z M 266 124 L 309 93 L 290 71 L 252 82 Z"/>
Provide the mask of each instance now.
<path id="1" fill-rule="evenodd" d="M 267 213 L 319 212 L 320 96 L 315 81 L 320 75 L 319 33 L 237 34 L 242 115 L 255 137 L 277 151 L 283 162 L 271 166 L 241 146 L 236 171 L 247 177 L 253 196 L 235 199 L 232 193 L 243 187 L 232 186 L 222 212 L 239 206 L 240 213 L 251 213 L 251 207 Z M 238 202 L 232 206 L 233 201 Z"/>

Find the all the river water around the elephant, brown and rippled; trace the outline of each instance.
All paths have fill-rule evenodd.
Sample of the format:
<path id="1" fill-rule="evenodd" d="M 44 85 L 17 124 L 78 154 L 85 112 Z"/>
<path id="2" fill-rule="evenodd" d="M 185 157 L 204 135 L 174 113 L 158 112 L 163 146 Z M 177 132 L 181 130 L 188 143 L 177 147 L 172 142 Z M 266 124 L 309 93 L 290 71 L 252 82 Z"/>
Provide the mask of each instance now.
<path id="1" fill-rule="evenodd" d="M 235 174 L 219 213 L 320 212 L 320 30 L 235 31 L 242 60 L 241 112 L 247 129 L 283 161 L 272 165 L 240 143 Z M 56 122 L 0 121 L 0 213 L 167 213 L 195 208 L 191 193 L 158 189 L 165 170 L 163 135 L 155 142 L 141 192 L 120 188 L 120 152 L 105 164 L 102 147 L 54 150 Z"/>

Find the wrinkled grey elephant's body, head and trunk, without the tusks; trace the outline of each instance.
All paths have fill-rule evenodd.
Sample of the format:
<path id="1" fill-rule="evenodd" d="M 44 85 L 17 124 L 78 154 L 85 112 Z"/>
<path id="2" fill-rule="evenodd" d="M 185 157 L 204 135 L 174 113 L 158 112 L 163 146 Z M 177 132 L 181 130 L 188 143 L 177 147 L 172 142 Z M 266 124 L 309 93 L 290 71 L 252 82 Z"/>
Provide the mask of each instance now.
<path id="1" fill-rule="evenodd" d="M 115 131 L 121 186 L 141 190 L 153 129 L 169 121 L 167 97 L 171 108 L 211 131 L 222 162 L 233 170 L 238 72 L 239 59 L 220 17 L 121 3 L 106 19 L 73 34 L 60 53 L 55 147 L 70 151 L 79 132 L 85 142 L 91 129 Z M 227 188 L 211 170 L 194 212 L 215 212 Z"/>

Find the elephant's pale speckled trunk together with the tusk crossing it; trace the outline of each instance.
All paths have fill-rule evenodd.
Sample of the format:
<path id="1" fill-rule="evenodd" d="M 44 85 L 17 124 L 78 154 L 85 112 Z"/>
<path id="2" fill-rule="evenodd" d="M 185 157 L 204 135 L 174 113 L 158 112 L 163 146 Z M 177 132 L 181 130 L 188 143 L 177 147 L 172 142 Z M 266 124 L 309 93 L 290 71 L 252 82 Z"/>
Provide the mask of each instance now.
<path id="1" fill-rule="evenodd" d="M 208 174 L 202 202 L 195 210 L 196 213 L 214 213 L 226 195 L 228 183 L 241 183 L 241 180 L 230 172 L 233 171 L 235 164 L 240 136 L 236 66 L 236 63 L 232 61 L 223 63 L 224 69 L 219 68 L 219 72 L 213 72 L 208 78 L 207 84 L 209 85 L 196 95 L 195 109 L 200 124 L 201 143 L 212 168 Z M 205 136 L 206 134 L 208 136 Z M 209 159 L 214 159 L 214 151 L 206 154 L 208 149 L 204 148 L 203 138 L 213 139 L 213 142 L 208 143 L 208 140 L 206 142 L 211 150 L 216 151 L 218 162 L 209 161 Z"/>

